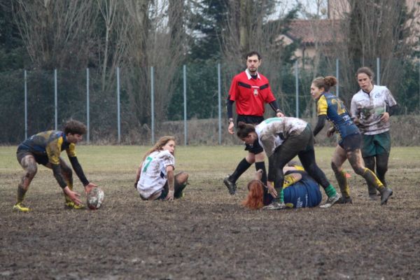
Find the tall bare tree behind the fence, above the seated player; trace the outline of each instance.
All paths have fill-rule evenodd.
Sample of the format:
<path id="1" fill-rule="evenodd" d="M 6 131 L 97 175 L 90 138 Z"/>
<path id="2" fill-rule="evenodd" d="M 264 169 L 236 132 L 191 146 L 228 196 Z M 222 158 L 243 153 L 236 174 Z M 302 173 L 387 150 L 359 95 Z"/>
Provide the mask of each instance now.
<path id="1" fill-rule="evenodd" d="M 151 120 L 151 66 L 154 69 L 155 116 L 166 116 L 174 90 L 174 79 L 181 75 L 181 62 L 188 46 L 185 1 L 125 0 L 130 15 L 127 76 L 135 118 L 141 124 Z M 162 120 L 162 118 L 159 118 Z"/>

